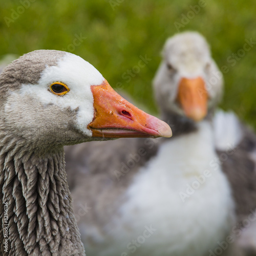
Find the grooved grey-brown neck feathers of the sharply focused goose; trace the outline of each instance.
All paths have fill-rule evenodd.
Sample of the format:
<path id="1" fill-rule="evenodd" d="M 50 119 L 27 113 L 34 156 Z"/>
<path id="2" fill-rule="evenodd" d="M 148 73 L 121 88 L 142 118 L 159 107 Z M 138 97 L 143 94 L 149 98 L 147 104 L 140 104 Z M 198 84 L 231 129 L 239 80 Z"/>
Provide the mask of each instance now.
<path id="1" fill-rule="evenodd" d="M 63 147 L 31 151 L 0 130 L 0 254 L 85 255 L 72 207 Z M 8 203 L 8 252 L 4 203 Z"/>

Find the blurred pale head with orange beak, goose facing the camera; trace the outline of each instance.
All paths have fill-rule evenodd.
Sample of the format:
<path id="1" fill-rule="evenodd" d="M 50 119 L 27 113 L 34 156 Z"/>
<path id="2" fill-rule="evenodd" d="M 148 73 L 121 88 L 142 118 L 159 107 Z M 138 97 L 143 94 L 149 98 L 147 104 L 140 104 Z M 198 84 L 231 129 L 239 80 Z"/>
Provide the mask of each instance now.
<path id="1" fill-rule="evenodd" d="M 165 42 L 153 83 L 163 114 L 177 114 L 197 122 L 219 102 L 223 77 L 204 37 L 184 32 Z"/>

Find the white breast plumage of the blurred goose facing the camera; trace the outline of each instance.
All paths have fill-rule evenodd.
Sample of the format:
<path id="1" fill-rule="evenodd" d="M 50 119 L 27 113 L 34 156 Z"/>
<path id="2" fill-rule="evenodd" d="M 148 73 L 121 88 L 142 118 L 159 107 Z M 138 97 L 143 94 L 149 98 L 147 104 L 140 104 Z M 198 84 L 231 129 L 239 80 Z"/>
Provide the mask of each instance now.
<path id="1" fill-rule="evenodd" d="M 234 206 L 212 138 L 202 122 L 198 132 L 161 145 L 105 227 L 112 242 L 97 255 L 200 256 L 225 238 Z"/>

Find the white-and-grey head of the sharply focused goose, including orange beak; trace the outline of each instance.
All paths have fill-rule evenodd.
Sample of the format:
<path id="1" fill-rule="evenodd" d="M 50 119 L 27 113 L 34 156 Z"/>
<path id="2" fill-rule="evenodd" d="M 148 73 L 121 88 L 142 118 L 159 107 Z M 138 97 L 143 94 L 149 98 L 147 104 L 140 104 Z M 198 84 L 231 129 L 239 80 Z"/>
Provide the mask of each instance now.
<path id="1" fill-rule="evenodd" d="M 89 62 L 37 50 L 0 75 L 0 124 L 42 147 L 119 137 L 170 137 L 166 123 L 119 96 Z"/>

